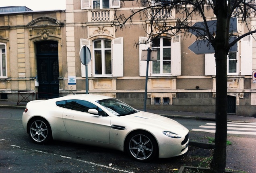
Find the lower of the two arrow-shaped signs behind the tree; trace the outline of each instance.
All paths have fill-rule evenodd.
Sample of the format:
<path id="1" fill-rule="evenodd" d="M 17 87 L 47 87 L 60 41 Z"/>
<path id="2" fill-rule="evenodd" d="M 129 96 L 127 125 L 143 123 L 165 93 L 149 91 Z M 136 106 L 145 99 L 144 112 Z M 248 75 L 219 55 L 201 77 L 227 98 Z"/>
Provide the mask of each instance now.
<path id="1" fill-rule="evenodd" d="M 236 38 L 236 36 L 232 36 L 229 39 L 229 42 L 233 42 Z M 213 46 L 207 40 L 196 40 L 190 46 L 188 46 L 188 49 L 195 54 L 215 53 Z M 229 49 L 229 52 L 237 52 L 237 43 Z"/>

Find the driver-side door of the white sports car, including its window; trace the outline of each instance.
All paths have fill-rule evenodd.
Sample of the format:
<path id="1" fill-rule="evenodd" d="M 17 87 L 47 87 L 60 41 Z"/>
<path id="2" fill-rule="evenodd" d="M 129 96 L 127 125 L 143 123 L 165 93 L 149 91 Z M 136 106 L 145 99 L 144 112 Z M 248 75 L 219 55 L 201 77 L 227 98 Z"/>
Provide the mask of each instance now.
<path id="1" fill-rule="evenodd" d="M 101 115 L 90 114 L 89 109 L 97 109 Z M 73 137 L 109 143 L 111 117 L 93 103 L 67 100 L 63 121 L 66 131 Z"/>

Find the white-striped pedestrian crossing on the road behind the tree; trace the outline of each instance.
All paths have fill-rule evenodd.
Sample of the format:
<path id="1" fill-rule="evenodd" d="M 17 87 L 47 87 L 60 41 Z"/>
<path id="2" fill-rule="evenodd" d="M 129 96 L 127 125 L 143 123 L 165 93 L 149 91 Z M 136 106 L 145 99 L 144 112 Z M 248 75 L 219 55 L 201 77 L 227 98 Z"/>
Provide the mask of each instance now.
<path id="1" fill-rule="evenodd" d="M 215 123 L 206 123 L 191 131 L 215 133 Z M 256 135 L 256 123 L 227 123 L 227 134 Z"/>

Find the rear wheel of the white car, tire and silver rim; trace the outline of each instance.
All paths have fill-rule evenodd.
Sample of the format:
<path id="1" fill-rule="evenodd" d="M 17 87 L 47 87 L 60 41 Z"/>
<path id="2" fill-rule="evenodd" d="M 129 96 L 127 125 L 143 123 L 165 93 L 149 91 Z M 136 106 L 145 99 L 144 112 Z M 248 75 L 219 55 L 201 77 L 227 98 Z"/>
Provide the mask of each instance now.
<path id="1" fill-rule="evenodd" d="M 45 144 L 52 139 L 52 130 L 49 123 L 40 117 L 29 123 L 28 132 L 30 139 L 37 144 Z"/>

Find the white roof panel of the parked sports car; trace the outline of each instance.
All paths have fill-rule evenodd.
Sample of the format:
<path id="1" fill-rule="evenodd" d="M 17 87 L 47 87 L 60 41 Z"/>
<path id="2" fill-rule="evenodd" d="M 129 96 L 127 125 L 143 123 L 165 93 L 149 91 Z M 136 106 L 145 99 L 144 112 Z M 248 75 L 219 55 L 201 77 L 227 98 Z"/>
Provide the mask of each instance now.
<path id="1" fill-rule="evenodd" d="M 60 98 L 62 98 L 60 100 L 81 99 L 81 100 L 89 100 L 89 101 L 98 101 L 103 99 L 112 99 L 113 97 L 108 97 L 104 95 L 94 95 L 94 94 L 76 94 L 76 95 L 66 95 Z"/>

